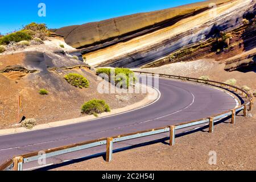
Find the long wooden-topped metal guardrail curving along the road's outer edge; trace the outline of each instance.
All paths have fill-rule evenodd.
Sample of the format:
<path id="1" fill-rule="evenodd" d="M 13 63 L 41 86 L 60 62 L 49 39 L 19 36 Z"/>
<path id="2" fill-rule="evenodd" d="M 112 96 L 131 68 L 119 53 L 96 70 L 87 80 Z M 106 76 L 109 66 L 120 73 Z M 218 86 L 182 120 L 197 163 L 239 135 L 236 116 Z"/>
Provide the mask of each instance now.
<path id="1" fill-rule="evenodd" d="M 151 74 L 151 76 L 155 75 L 155 73 L 149 73 L 149 72 L 137 72 L 137 73 Z M 246 117 L 247 109 L 248 109 L 247 105 L 250 105 L 249 110 L 252 110 L 252 108 L 253 108 L 254 97 L 252 97 L 251 94 L 247 93 L 245 90 L 238 88 L 237 86 L 232 86 L 232 85 L 228 85 L 228 84 L 225 84 L 222 82 L 217 82 L 217 81 L 201 80 L 198 78 L 189 78 L 189 77 L 164 75 L 164 74 L 158 74 L 158 75 L 160 77 L 168 77 L 168 78 L 176 78 L 179 80 L 201 82 L 203 84 L 217 86 L 219 88 L 228 87 L 226 89 L 229 89 L 232 92 L 241 94 L 241 96 L 245 96 L 246 101 L 244 101 L 244 104 L 240 105 L 239 107 L 237 107 L 235 109 L 225 111 L 224 113 L 212 115 L 208 118 L 179 123 L 179 124 L 172 125 L 172 126 L 160 127 L 157 129 L 144 130 L 144 131 L 138 131 L 138 132 L 130 133 L 130 134 L 118 135 L 115 137 L 96 139 L 96 140 L 86 141 L 86 142 L 82 142 L 82 143 L 71 144 L 71 145 L 63 146 L 63 147 L 51 148 L 51 149 L 48 149 L 45 151 L 37 151 L 37 152 L 32 152 L 32 153 L 20 155 L 20 156 L 14 156 L 13 159 L 9 159 L 5 163 L 3 163 L 0 166 L 0 170 L 1 171 L 10 171 L 13 169 L 14 171 L 22 171 L 24 163 L 29 163 L 29 162 L 33 162 L 33 161 L 42 159 L 43 155 L 44 155 L 43 156 L 44 158 L 50 158 L 52 156 L 67 154 L 70 152 L 85 150 L 86 148 L 92 148 L 92 147 L 102 146 L 102 145 L 106 145 L 106 162 L 110 162 L 112 160 L 112 156 L 113 156 L 113 143 L 169 132 L 170 133 L 170 146 L 174 146 L 176 130 L 184 129 L 184 128 L 191 127 L 191 126 L 201 125 L 204 123 L 209 123 L 209 133 L 212 133 L 214 130 L 214 121 L 217 121 L 221 118 L 225 118 L 225 117 L 228 117 L 231 115 L 232 116 L 231 123 L 234 124 L 235 119 L 236 119 L 236 114 L 238 111 L 243 110 L 243 116 Z M 232 89 L 234 89 L 234 90 L 232 90 Z"/>

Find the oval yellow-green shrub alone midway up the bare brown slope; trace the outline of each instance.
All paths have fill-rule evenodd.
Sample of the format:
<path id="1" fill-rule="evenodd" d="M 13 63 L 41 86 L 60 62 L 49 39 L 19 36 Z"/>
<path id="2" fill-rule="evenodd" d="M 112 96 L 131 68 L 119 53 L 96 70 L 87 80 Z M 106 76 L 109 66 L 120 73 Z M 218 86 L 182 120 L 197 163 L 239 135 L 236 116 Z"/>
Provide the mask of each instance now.
<path id="1" fill-rule="evenodd" d="M 69 73 L 68 75 L 65 75 L 65 80 L 73 86 L 79 87 L 79 88 L 88 88 L 89 87 L 89 81 L 83 77 L 82 75 L 79 75 L 78 73 Z"/>

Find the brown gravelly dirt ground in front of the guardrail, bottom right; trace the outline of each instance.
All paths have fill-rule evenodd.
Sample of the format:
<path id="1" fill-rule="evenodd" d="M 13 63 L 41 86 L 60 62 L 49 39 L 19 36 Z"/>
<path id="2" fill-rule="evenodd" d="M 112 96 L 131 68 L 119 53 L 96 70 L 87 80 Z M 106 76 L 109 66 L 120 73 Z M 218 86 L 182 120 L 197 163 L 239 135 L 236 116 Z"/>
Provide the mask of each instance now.
<path id="1" fill-rule="evenodd" d="M 256 109 L 253 117 L 238 114 L 214 127 L 176 138 L 175 146 L 156 143 L 113 154 L 106 163 L 102 157 L 73 163 L 53 170 L 256 170 Z M 217 154 L 217 164 L 209 164 L 209 152 Z"/>

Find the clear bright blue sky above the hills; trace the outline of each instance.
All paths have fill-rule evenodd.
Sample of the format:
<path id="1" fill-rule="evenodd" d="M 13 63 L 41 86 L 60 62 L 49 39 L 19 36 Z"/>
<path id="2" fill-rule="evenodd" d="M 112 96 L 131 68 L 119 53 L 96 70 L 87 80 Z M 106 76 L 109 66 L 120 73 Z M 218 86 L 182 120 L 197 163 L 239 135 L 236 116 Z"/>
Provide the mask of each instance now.
<path id="1" fill-rule="evenodd" d="M 167 9 L 202 0 L 17 0 L 1 1 L 0 33 L 19 30 L 31 23 L 59 28 L 114 18 L 122 15 Z M 38 16 L 38 4 L 46 4 L 46 17 Z"/>

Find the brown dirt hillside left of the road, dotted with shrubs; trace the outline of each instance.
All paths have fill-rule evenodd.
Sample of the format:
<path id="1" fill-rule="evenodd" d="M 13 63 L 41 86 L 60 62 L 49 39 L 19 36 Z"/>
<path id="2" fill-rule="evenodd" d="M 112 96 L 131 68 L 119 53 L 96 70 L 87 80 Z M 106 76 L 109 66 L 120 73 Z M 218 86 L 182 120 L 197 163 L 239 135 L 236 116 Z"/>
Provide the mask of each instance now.
<path id="1" fill-rule="evenodd" d="M 0 129 L 19 127 L 18 97 L 21 97 L 20 117 L 35 118 L 37 124 L 78 118 L 81 106 L 92 99 L 102 99 L 110 109 L 139 102 L 147 94 L 101 94 L 97 92 L 96 73 L 88 65 L 73 59 L 61 49 L 61 40 L 47 40 L 39 46 L 29 46 L 0 55 Z M 11 66 L 9 71 L 6 68 Z M 34 72 L 35 71 L 35 72 Z M 89 88 L 79 89 L 68 84 L 64 76 L 79 73 L 90 82 Z M 39 89 L 49 91 L 47 96 Z"/>

